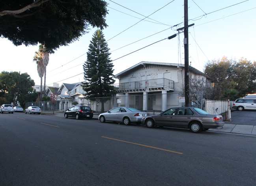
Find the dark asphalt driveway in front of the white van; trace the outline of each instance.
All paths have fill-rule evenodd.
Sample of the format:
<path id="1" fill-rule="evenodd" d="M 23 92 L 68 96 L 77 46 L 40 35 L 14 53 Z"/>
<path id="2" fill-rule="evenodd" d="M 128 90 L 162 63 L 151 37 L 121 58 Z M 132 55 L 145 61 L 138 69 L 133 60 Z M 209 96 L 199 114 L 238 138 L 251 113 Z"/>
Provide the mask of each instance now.
<path id="1" fill-rule="evenodd" d="M 225 123 L 240 125 L 256 125 L 256 110 L 232 111 L 231 121 L 225 121 Z"/>

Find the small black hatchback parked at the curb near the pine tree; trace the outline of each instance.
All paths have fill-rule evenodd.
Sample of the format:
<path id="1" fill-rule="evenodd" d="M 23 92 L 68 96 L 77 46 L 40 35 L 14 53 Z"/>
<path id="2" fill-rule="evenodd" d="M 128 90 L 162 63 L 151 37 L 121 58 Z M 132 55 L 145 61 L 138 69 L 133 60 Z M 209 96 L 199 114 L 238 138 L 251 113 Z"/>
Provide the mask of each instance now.
<path id="1" fill-rule="evenodd" d="M 74 117 L 76 119 L 87 118 L 92 119 L 93 111 L 88 106 L 73 106 L 64 113 L 65 118 Z"/>

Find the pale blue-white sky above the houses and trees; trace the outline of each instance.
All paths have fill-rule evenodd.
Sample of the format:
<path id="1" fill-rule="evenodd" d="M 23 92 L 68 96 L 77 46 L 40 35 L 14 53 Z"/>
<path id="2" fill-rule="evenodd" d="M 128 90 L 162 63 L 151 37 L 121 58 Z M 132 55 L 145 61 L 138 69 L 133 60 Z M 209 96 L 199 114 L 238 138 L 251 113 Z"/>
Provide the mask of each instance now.
<path id="1" fill-rule="evenodd" d="M 184 26 L 184 0 L 106 1 L 108 27 L 103 33 L 112 53 L 114 74 L 141 61 L 184 64 L 184 34 L 165 39 Z M 256 60 L 256 0 L 188 0 L 188 4 L 189 24 L 194 23 L 189 27 L 192 67 L 203 71 L 208 60 L 223 56 Z M 91 28 L 79 40 L 50 55 L 47 85 L 84 80 L 82 64 L 86 61 L 86 52 L 96 29 Z M 148 46 L 150 44 L 153 45 Z M 146 48 L 141 49 L 143 47 Z M 138 49 L 141 50 L 132 53 Z M 33 62 L 35 51 L 38 51 L 38 46 L 14 46 L 6 38 L 0 38 L 0 71 L 26 72 L 39 85 L 40 78 Z M 132 54 L 127 55 L 129 53 Z M 122 57 L 124 55 L 127 56 Z"/>

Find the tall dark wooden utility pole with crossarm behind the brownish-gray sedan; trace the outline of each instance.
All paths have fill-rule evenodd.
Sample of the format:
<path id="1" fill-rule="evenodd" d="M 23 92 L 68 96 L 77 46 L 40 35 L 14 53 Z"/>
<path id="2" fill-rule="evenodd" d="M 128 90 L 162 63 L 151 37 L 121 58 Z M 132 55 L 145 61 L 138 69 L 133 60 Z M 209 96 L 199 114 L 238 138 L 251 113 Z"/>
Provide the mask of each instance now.
<path id="1" fill-rule="evenodd" d="M 189 24 L 189 16 L 188 16 L 188 3 L 187 0 L 184 0 L 184 27 L 177 29 L 177 31 L 184 29 L 184 71 L 185 71 L 185 106 L 190 106 L 189 99 L 189 27 L 194 24 Z"/>

